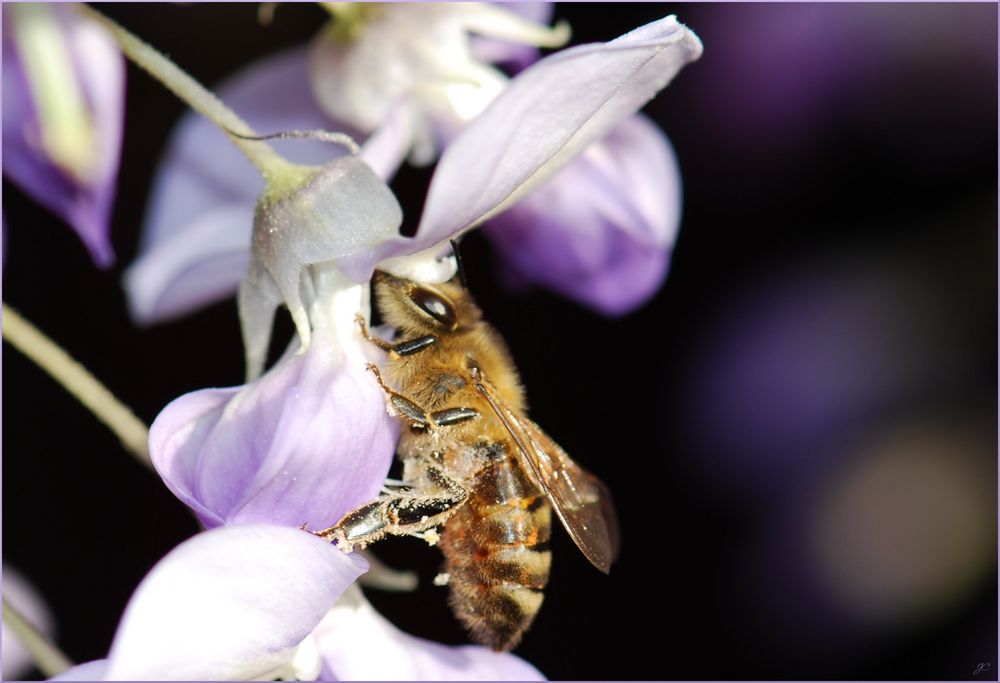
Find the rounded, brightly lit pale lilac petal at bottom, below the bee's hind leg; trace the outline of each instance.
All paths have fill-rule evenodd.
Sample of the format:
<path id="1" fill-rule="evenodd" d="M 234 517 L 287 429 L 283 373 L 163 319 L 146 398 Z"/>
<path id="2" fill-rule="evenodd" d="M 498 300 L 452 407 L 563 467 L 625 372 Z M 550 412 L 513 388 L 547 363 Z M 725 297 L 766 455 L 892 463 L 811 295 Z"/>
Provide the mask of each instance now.
<path id="1" fill-rule="evenodd" d="M 111 680 L 251 680 L 286 664 L 367 562 L 298 529 L 206 531 L 139 584 L 108 655 Z"/>

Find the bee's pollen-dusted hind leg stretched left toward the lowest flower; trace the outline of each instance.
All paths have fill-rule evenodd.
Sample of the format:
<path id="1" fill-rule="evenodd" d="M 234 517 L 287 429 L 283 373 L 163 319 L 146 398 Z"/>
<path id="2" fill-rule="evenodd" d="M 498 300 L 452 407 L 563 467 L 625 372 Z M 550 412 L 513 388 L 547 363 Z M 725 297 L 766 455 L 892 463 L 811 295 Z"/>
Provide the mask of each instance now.
<path id="1" fill-rule="evenodd" d="M 434 484 L 429 492 L 381 496 L 347 513 L 329 529 L 311 533 L 350 552 L 355 545 L 363 548 L 386 534 L 419 535 L 444 524 L 469 492 L 434 465 L 427 464 L 425 474 Z"/>

